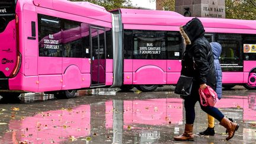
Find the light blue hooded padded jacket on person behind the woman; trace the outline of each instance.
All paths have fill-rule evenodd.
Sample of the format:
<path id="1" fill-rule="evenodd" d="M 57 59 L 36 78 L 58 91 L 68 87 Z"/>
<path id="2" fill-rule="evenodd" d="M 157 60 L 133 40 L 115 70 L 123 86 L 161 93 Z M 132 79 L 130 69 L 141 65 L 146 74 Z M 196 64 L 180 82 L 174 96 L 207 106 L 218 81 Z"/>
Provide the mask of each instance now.
<path id="1" fill-rule="evenodd" d="M 213 59 L 215 62 L 215 74 L 216 74 L 216 93 L 220 100 L 222 97 L 222 69 L 219 63 L 219 57 L 222 52 L 222 46 L 219 43 L 212 42 L 210 43 L 213 51 Z"/>

